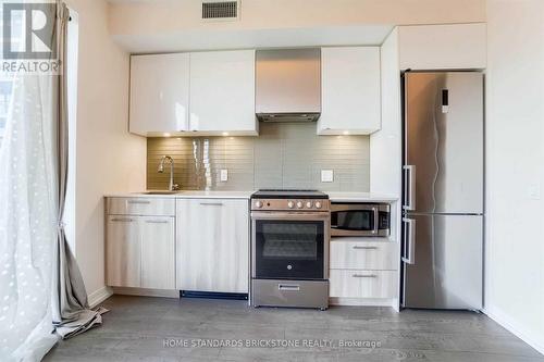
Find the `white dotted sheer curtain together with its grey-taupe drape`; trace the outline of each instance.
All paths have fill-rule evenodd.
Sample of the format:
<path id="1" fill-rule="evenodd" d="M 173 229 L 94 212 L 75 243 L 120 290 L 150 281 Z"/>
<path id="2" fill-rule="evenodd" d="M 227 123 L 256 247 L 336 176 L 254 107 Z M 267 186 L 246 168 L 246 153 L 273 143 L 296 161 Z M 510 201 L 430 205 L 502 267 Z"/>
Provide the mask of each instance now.
<path id="1" fill-rule="evenodd" d="M 61 222 L 69 157 L 69 10 L 58 1 L 50 11 L 64 70 L 15 76 L 0 148 L 1 361 L 39 361 L 58 339 L 101 323 L 102 310 L 88 309 Z"/>

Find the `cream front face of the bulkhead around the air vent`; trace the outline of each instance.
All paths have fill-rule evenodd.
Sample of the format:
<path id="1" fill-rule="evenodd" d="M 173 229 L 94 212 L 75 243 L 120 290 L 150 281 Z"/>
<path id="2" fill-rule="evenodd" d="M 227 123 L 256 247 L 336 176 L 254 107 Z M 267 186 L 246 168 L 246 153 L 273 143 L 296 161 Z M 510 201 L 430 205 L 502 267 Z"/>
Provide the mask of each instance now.
<path id="1" fill-rule="evenodd" d="M 485 0 L 243 0 L 237 22 L 202 22 L 201 0 L 111 1 L 112 34 L 485 21 Z"/>

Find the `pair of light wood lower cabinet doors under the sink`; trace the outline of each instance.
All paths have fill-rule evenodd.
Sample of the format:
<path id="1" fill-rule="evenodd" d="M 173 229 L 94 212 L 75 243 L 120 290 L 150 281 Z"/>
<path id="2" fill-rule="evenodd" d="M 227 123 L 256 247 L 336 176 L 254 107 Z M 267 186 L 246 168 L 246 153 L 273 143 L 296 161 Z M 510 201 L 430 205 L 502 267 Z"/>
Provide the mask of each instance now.
<path id="1" fill-rule="evenodd" d="M 109 215 L 108 286 L 174 289 L 174 223 L 171 216 Z"/>

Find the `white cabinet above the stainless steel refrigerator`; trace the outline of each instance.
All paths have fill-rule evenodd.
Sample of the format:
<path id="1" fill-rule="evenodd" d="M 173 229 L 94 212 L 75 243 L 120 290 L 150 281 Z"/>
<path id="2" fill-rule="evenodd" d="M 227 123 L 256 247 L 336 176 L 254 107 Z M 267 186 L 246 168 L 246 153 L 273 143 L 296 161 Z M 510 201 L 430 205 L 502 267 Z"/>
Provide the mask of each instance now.
<path id="1" fill-rule="evenodd" d="M 484 23 L 398 27 L 400 70 L 486 67 Z"/>

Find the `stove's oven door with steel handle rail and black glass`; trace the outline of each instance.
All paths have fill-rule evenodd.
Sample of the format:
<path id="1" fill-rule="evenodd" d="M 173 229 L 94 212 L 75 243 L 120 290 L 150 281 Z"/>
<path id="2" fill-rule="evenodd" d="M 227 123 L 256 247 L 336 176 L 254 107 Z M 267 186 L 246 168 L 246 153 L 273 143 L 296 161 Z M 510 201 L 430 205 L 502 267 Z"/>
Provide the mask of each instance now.
<path id="1" fill-rule="evenodd" d="M 254 212 L 251 276 L 326 279 L 330 220 L 327 212 Z"/>

